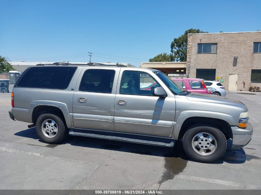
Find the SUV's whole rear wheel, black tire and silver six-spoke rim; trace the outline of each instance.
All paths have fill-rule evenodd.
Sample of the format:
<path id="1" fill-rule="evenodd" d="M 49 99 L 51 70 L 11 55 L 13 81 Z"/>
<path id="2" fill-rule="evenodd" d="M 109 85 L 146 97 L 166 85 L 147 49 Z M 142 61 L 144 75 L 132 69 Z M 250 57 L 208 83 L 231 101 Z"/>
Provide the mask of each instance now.
<path id="1" fill-rule="evenodd" d="M 58 113 L 42 114 L 36 121 L 36 132 L 38 137 L 48 144 L 57 144 L 68 135 L 63 117 Z"/>

